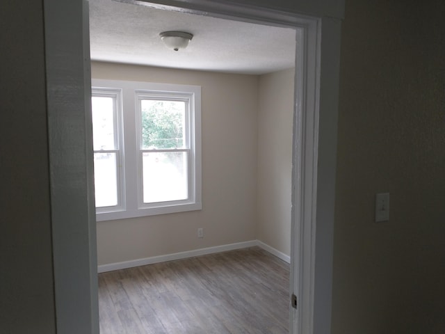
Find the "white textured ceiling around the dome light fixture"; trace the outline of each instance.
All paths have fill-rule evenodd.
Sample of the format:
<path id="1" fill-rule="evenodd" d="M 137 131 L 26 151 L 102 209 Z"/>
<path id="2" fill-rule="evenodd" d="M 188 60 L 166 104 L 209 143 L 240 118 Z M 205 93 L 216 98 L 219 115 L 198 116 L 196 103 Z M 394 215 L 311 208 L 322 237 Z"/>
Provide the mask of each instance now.
<path id="1" fill-rule="evenodd" d="M 90 0 L 91 59 L 159 67 L 264 74 L 294 67 L 296 31 L 154 9 L 113 0 Z M 186 31 L 184 50 L 165 47 L 159 33 Z"/>

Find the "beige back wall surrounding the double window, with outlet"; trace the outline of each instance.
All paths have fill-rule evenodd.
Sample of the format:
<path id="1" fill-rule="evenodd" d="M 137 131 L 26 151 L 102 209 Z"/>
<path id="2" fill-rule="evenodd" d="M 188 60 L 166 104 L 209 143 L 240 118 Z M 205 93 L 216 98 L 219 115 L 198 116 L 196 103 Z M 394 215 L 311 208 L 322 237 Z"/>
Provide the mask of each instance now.
<path id="1" fill-rule="evenodd" d="M 99 265 L 256 239 L 257 76 L 93 62 L 92 77 L 202 86 L 202 210 L 98 222 Z"/>

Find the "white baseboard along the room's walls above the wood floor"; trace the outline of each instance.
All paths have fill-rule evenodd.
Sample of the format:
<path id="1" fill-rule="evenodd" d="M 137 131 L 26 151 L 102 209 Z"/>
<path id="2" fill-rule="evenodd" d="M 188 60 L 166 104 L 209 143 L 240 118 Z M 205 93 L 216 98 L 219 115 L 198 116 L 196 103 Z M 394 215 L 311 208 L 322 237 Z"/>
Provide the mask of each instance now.
<path id="1" fill-rule="evenodd" d="M 291 257 L 289 257 L 289 255 L 281 253 L 279 250 L 276 250 L 275 248 L 264 244 L 264 242 L 262 242 L 262 241 L 251 240 L 251 241 L 238 242 L 236 244 L 227 244 L 227 245 L 222 245 L 222 246 L 200 248 L 200 249 L 195 249 L 195 250 L 187 250 L 186 252 L 181 252 L 181 253 L 172 253 L 172 254 L 167 254 L 167 255 L 145 257 L 143 259 L 137 259 L 137 260 L 115 262 L 115 263 L 110 263 L 110 264 L 102 264 L 97 267 L 97 272 L 105 273 L 106 271 L 146 266 L 147 264 L 154 264 L 154 263 L 166 262 L 166 261 L 172 261 L 172 260 L 181 260 L 181 259 L 186 259 L 187 257 L 195 257 L 195 256 L 200 256 L 200 255 L 220 253 L 220 252 L 225 252 L 227 250 L 248 248 L 248 247 L 253 247 L 253 246 L 259 246 L 259 247 L 263 248 L 264 250 L 268 251 L 270 254 L 275 255 L 276 257 L 280 258 L 284 262 L 287 262 L 287 263 L 291 262 Z"/>

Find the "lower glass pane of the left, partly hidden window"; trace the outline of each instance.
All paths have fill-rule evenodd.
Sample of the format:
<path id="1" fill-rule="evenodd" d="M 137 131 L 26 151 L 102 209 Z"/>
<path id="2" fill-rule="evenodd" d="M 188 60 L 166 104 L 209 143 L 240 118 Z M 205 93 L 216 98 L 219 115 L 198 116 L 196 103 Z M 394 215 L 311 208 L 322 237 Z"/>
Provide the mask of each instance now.
<path id="1" fill-rule="evenodd" d="M 95 153 L 96 207 L 118 205 L 118 170 L 116 153 Z"/>

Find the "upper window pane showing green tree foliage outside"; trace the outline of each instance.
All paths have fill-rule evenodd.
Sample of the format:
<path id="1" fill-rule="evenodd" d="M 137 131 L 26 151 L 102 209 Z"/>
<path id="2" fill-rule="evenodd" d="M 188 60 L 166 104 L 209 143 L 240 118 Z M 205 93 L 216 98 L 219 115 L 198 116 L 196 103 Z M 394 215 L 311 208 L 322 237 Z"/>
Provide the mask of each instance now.
<path id="1" fill-rule="evenodd" d="M 184 148 L 186 102 L 141 100 L 142 148 Z"/>

